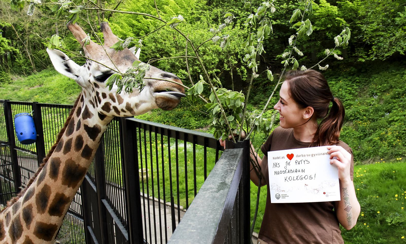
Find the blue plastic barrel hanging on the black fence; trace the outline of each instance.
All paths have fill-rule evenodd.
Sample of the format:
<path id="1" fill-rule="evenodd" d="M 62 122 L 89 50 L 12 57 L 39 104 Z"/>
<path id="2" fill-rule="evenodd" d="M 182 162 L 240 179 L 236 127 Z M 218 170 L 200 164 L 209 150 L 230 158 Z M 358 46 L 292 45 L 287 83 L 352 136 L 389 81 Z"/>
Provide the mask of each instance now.
<path id="1" fill-rule="evenodd" d="M 14 116 L 14 126 L 17 139 L 21 144 L 32 144 L 37 139 L 34 119 L 29 113 L 19 113 Z"/>

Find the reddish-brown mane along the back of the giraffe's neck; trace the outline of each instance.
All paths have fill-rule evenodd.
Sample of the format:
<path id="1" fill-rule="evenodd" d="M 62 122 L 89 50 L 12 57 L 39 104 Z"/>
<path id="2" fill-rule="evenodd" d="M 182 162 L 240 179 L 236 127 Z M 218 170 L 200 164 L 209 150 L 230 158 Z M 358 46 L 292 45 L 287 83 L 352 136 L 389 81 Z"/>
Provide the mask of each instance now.
<path id="1" fill-rule="evenodd" d="M 73 108 L 71 109 L 69 116 L 67 117 L 65 124 L 63 125 L 62 129 L 60 129 L 58 136 L 56 137 L 56 142 L 54 143 L 54 145 L 51 147 L 51 149 L 48 151 L 47 156 L 45 156 L 45 158 L 42 160 L 41 165 L 39 165 L 37 172 L 34 174 L 34 176 L 32 176 L 30 178 L 30 181 L 28 182 L 27 186 L 22 189 L 15 197 L 13 197 L 12 199 L 10 199 L 10 201 L 7 203 L 7 207 L 9 208 L 11 207 L 20 197 L 22 197 L 24 195 L 24 193 L 26 192 L 26 190 L 28 189 L 28 187 L 30 187 L 30 185 L 32 184 L 32 182 L 34 182 L 35 178 L 37 178 L 37 176 L 39 175 L 39 173 L 41 172 L 41 170 L 43 169 L 43 167 L 45 166 L 45 164 L 48 162 L 48 159 L 51 157 L 52 153 L 54 152 L 56 146 L 58 145 L 60 138 L 62 138 L 63 133 L 65 133 L 65 130 L 69 124 L 69 122 L 71 121 L 71 118 L 73 116 L 73 113 L 75 112 L 76 106 L 78 105 L 79 101 L 80 101 L 80 97 L 82 96 L 82 92 L 79 94 L 78 98 L 76 98 L 76 102 L 73 105 Z M 4 208 L 1 212 L 3 212 L 6 208 Z"/>

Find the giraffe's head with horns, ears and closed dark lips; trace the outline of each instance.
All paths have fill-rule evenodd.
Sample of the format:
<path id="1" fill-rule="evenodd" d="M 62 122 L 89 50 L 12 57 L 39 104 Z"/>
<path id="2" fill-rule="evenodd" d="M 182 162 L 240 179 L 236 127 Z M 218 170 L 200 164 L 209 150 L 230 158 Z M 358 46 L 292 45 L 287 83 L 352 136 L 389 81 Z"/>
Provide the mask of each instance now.
<path id="1" fill-rule="evenodd" d="M 127 68 L 131 67 L 135 60 L 138 60 L 138 57 L 127 48 L 117 52 L 110 48 L 114 43 L 117 43 L 118 39 L 106 22 L 100 26 L 104 35 L 103 46 L 93 41 L 90 41 L 88 45 L 83 45 L 83 40 L 87 34 L 82 28 L 71 23 L 67 27 L 82 45 L 84 54 L 88 58 L 86 64 L 79 66 L 62 51 L 56 49 L 47 49 L 48 54 L 56 71 L 74 79 L 83 88 L 85 102 L 87 101 L 99 111 L 99 117 L 134 116 L 156 108 L 171 110 L 177 106 L 180 98 L 185 96 L 185 90 L 182 86 L 170 81 L 156 79 L 145 79 L 145 87 L 141 92 L 134 89 L 130 94 L 124 91 L 118 94 L 115 84 L 109 91 L 106 80 L 110 75 L 116 73 L 112 69 L 117 68 L 119 72 L 125 73 Z M 162 71 L 153 66 L 146 73 L 146 77 L 181 83 L 180 79 L 173 73 Z"/>

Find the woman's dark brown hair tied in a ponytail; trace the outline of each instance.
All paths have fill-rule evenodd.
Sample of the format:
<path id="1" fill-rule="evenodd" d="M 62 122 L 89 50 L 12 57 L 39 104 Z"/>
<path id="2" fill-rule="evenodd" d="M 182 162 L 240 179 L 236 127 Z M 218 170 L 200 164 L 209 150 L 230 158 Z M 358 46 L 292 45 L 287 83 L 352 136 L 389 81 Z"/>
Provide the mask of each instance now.
<path id="1" fill-rule="evenodd" d="M 289 94 L 300 108 L 313 107 L 313 116 L 323 119 L 317 126 L 312 144 L 327 146 L 338 143 L 344 121 L 344 107 L 334 98 L 322 73 L 315 70 L 289 71 L 285 82 L 289 84 Z M 333 105 L 328 111 L 330 102 Z"/>

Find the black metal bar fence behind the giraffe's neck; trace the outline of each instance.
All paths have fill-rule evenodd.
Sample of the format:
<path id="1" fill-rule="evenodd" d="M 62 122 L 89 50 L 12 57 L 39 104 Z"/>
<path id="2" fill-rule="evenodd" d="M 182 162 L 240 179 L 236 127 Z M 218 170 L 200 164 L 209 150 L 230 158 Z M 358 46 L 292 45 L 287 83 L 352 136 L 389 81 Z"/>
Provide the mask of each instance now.
<path id="1" fill-rule="evenodd" d="M 15 196 L 37 171 L 71 107 L 0 100 L 2 204 Z M 37 142 L 22 145 L 15 136 L 13 116 L 32 111 Z M 58 242 L 168 242 L 221 150 L 218 141 L 207 133 L 115 118 L 68 210 Z M 236 186 L 238 192 L 244 192 L 242 185 Z M 237 205 L 246 204 L 242 199 L 248 199 L 244 219 L 248 218 L 249 224 L 249 189 L 244 197 L 237 194 L 234 199 Z M 237 216 L 243 214 L 233 212 Z M 249 231 L 245 225 L 238 227 Z"/>

